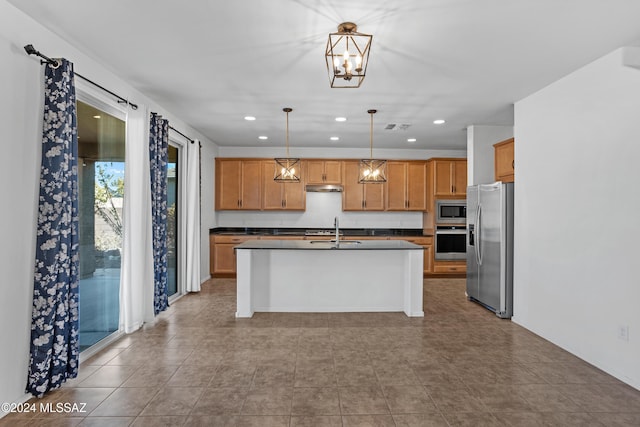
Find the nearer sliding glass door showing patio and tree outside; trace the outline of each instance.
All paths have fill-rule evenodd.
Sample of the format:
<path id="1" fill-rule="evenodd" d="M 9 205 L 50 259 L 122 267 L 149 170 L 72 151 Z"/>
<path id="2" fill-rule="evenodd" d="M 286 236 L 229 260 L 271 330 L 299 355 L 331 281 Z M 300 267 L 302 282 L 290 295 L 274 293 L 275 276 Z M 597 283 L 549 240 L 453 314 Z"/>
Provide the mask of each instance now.
<path id="1" fill-rule="evenodd" d="M 118 331 L 125 121 L 78 101 L 80 350 Z"/>

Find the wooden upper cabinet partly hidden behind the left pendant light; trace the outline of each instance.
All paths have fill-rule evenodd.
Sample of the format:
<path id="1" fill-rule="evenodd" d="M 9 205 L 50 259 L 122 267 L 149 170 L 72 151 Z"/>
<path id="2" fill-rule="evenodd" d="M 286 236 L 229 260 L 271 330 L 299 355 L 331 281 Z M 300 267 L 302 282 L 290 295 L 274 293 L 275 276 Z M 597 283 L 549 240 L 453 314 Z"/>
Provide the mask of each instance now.
<path id="1" fill-rule="evenodd" d="M 262 209 L 299 210 L 305 209 L 304 182 L 277 182 L 273 180 L 275 161 L 262 162 Z"/>

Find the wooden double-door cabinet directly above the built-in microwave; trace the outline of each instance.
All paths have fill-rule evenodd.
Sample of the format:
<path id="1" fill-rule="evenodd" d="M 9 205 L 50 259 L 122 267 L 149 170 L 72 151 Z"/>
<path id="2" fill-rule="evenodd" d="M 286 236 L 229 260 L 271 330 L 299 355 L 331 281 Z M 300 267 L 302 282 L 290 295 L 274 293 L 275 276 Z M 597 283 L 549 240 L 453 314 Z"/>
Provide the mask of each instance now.
<path id="1" fill-rule="evenodd" d="M 431 159 L 429 162 L 434 198 L 466 198 L 466 159 Z"/>

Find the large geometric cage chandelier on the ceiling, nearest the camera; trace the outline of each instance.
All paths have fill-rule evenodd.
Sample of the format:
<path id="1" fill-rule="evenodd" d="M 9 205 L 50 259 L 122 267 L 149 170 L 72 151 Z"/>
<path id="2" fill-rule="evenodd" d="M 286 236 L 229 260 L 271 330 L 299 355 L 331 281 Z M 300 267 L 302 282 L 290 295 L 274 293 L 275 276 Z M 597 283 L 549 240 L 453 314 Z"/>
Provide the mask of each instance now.
<path id="1" fill-rule="evenodd" d="M 331 87 L 360 87 L 367 73 L 372 39 L 370 34 L 359 33 L 353 22 L 343 22 L 337 33 L 329 34 L 325 59 Z"/>

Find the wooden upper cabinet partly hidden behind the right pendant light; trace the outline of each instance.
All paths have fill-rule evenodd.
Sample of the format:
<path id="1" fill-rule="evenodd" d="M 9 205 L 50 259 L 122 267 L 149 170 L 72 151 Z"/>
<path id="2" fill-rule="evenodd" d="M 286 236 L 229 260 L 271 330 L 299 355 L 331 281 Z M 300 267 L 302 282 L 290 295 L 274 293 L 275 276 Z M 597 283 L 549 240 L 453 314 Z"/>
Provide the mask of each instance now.
<path id="1" fill-rule="evenodd" d="M 359 161 L 345 161 L 342 164 L 342 210 L 343 211 L 383 211 L 384 184 L 359 184 Z"/>

